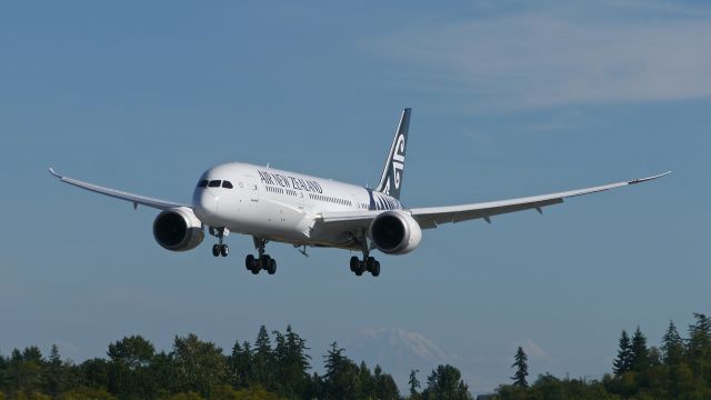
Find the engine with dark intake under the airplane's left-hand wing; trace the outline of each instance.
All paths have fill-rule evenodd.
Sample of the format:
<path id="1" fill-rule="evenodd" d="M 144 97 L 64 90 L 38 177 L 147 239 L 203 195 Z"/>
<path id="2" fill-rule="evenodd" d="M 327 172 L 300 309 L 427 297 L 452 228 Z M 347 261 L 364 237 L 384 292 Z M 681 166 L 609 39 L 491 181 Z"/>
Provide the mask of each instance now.
<path id="1" fill-rule="evenodd" d="M 163 249 L 186 251 L 204 239 L 202 222 L 191 209 L 180 207 L 166 210 L 153 221 L 153 238 Z"/>

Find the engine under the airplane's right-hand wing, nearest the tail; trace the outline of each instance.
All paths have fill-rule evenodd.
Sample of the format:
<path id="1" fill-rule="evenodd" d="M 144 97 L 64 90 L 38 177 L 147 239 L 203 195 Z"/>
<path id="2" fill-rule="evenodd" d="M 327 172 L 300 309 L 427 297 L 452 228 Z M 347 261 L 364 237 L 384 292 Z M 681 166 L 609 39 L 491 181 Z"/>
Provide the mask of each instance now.
<path id="1" fill-rule="evenodd" d="M 422 240 L 420 224 L 403 211 L 385 211 L 370 223 L 368 232 L 375 248 L 387 254 L 404 254 Z"/>

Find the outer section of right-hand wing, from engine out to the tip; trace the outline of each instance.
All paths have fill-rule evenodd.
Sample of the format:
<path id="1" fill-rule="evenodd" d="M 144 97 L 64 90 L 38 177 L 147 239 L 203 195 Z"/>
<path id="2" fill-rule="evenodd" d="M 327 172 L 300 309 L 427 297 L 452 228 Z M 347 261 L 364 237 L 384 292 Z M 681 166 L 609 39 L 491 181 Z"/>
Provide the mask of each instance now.
<path id="1" fill-rule="evenodd" d="M 462 206 L 449 206 L 449 207 L 429 207 L 429 208 L 414 208 L 410 210 L 412 218 L 414 218 L 420 227 L 437 228 L 442 223 L 448 222 L 461 222 L 477 218 L 483 218 L 487 222 L 491 222 L 490 218 L 493 216 L 514 212 L 521 210 L 535 209 L 541 212 L 541 209 L 547 206 L 562 203 L 564 198 L 594 193 L 603 190 L 610 190 L 615 188 L 625 187 L 629 184 L 635 184 L 645 182 L 652 179 L 661 178 L 671 171 L 660 173 L 649 178 L 634 179 L 630 181 L 603 184 L 593 188 L 570 190 L 558 193 L 533 196 L 520 199 L 489 201 L 474 204 Z"/>

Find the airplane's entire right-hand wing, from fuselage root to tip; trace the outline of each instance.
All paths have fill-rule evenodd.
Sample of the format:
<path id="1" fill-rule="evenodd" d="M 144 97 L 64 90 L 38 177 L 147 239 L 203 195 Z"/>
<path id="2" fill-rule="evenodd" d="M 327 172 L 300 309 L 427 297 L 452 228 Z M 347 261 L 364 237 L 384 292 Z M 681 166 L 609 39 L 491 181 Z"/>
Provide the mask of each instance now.
<path id="1" fill-rule="evenodd" d="M 533 196 L 520 199 L 489 201 L 473 204 L 413 208 L 410 210 L 405 210 L 405 212 L 410 213 L 423 229 L 437 228 L 442 223 L 461 222 L 477 218 L 482 218 L 490 222 L 490 219 L 493 216 L 529 209 L 535 209 L 539 212 L 542 212 L 541 209 L 543 207 L 561 203 L 565 198 L 590 194 L 599 191 L 647 182 L 652 179 L 661 178 L 670 172 L 671 171 L 649 178 L 634 179 L 630 181 L 603 184 L 593 188 L 570 190 L 558 193 Z M 342 229 L 362 229 L 368 227 L 370 221 L 380 212 L 382 211 L 331 212 L 321 214 L 319 218 L 317 218 L 317 221 L 328 226 L 340 226 L 342 227 Z"/>

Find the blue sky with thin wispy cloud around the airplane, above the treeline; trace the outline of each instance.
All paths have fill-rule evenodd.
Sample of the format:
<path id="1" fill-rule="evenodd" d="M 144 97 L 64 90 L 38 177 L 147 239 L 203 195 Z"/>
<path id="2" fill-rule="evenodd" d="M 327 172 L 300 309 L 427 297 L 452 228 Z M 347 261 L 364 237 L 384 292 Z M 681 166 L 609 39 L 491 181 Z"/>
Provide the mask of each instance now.
<path id="1" fill-rule="evenodd" d="M 188 332 L 229 349 L 291 323 L 319 356 L 393 329 L 482 392 L 519 344 L 533 376 L 599 378 L 622 329 L 657 344 L 669 319 L 711 312 L 711 7 L 432 4 L 2 2 L 0 351 L 57 342 L 82 361 Z M 154 210 L 47 173 L 173 201 L 233 160 L 374 184 L 404 107 L 405 206 L 674 173 L 425 231 L 378 279 L 348 252 L 286 244 L 269 247 L 279 272 L 253 277 L 238 236 L 227 259 L 211 240 L 171 253 Z"/>

